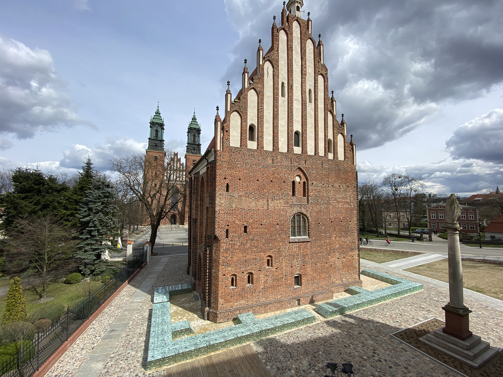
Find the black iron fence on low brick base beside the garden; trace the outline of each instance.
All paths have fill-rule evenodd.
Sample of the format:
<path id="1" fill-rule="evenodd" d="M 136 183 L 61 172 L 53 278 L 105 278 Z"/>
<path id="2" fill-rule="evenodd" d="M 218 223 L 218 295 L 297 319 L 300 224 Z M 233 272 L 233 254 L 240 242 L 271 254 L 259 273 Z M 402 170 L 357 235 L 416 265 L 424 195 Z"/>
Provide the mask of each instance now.
<path id="1" fill-rule="evenodd" d="M 69 305 L 58 322 L 44 332 L 37 332 L 33 341 L 17 343 L 17 355 L 5 360 L 0 365 L 2 377 L 29 377 L 54 354 L 77 329 L 86 322 L 98 308 L 112 296 L 147 260 L 146 251 L 133 247 L 133 258 L 126 267 L 118 271 L 109 281 L 95 290 L 90 290 L 85 297 Z"/>

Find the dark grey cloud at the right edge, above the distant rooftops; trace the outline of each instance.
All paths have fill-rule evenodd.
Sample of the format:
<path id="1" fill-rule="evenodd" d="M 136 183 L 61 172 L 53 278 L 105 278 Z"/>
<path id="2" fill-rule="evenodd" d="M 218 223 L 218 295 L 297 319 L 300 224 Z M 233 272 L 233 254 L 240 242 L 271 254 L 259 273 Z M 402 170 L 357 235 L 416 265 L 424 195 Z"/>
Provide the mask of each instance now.
<path id="1" fill-rule="evenodd" d="M 503 110 L 494 109 L 456 129 L 446 145 L 455 158 L 503 164 Z"/>

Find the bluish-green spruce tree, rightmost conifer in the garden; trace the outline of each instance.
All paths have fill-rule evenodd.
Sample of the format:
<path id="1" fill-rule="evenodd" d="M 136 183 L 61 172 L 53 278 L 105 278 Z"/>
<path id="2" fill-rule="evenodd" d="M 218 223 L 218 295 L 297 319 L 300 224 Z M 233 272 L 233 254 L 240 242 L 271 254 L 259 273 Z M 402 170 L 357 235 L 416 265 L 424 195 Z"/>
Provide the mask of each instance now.
<path id="1" fill-rule="evenodd" d="M 102 257 L 113 245 L 116 234 L 116 207 L 114 189 L 104 179 L 95 179 L 80 204 L 78 219 L 82 232 L 75 256 L 80 260 L 80 270 L 86 275 L 98 274 L 105 269 Z"/>

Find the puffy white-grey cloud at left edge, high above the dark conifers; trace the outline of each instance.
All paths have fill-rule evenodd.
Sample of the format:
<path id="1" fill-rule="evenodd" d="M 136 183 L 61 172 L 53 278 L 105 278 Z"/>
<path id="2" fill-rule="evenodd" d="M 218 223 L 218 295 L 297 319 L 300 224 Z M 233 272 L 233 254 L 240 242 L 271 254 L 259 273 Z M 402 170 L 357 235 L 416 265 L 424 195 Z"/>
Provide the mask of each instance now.
<path id="1" fill-rule="evenodd" d="M 0 134 L 26 139 L 75 125 L 93 126 L 76 114 L 49 51 L 0 37 Z M 11 146 L 0 141 L 0 149 Z"/>

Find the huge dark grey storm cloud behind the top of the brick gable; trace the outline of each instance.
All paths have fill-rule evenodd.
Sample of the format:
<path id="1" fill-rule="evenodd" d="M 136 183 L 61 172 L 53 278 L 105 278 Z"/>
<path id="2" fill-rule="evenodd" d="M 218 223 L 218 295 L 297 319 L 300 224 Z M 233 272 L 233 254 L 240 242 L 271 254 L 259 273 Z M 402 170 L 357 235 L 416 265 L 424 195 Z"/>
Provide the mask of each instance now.
<path id="1" fill-rule="evenodd" d="M 235 94 L 242 59 L 255 60 L 259 38 L 270 46 L 281 2 L 225 3 L 240 40 L 222 81 L 230 79 Z M 322 34 L 329 88 L 359 148 L 396 139 L 442 105 L 477 98 L 503 80 L 500 1 L 306 0 L 303 10 L 311 11 L 313 35 Z"/>

